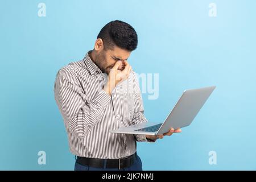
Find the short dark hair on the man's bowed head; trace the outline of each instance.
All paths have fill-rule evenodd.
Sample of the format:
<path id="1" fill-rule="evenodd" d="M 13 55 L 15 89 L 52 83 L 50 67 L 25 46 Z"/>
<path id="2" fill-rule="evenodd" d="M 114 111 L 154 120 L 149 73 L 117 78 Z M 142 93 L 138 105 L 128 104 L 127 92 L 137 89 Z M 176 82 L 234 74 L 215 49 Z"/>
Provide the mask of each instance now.
<path id="1" fill-rule="evenodd" d="M 113 46 L 134 51 L 138 45 L 138 36 L 130 24 L 115 20 L 106 24 L 97 36 L 102 39 L 105 49 L 112 49 Z"/>

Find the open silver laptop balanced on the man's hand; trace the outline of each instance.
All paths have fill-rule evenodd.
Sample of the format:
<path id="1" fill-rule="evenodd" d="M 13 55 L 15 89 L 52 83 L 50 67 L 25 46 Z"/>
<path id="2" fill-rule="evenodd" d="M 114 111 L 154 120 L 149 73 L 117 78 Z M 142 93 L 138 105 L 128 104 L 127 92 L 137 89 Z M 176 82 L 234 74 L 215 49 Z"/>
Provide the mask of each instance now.
<path id="1" fill-rule="evenodd" d="M 185 90 L 163 123 L 143 122 L 113 130 L 111 133 L 159 135 L 167 133 L 171 127 L 178 129 L 188 126 L 215 88 L 216 86 L 209 86 Z"/>

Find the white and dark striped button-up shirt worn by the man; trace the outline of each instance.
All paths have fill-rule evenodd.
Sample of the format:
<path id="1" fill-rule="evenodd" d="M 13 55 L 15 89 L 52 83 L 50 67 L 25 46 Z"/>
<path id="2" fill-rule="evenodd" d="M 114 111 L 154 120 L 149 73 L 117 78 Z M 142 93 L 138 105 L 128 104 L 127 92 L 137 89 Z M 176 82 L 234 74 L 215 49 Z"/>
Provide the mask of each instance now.
<path id="1" fill-rule="evenodd" d="M 103 88 L 107 75 L 90 59 L 69 63 L 57 72 L 54 92 L 64 120 L 69 150 L 77 156 L 119 159 L 136 152 L 146 135 L 113 134 L 111 130 L 147 122 L 138 79 L 132 70 L 111 96 Z"/>

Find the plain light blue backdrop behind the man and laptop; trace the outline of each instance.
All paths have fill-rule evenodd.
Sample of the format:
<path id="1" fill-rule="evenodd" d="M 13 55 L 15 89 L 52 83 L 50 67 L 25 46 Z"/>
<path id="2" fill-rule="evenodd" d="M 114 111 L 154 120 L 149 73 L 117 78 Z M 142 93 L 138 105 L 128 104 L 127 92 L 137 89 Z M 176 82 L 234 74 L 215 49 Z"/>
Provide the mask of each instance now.
<path id="1" fill-rule="evenodd" d="M 38 4 L 46 3 L 46 17 Z M 209 3 L 217 17 L 209 17 Z M 159 98 L 143 94 L 149 121 L 163 121 L 184 89 L 217 85 L 191 126 L 138 143 L 143 169 L 256 169 L 256 1 L 0 1 L 0 169 L 73 170 L 53 96 L 57 71 L 81 60 L 111 20 L 130 23 L 137 73 L 159 73 Z M 46 151 L 46 165 L 38 152 Z M 217 165 L 208 163 L 216 151 Z"/>

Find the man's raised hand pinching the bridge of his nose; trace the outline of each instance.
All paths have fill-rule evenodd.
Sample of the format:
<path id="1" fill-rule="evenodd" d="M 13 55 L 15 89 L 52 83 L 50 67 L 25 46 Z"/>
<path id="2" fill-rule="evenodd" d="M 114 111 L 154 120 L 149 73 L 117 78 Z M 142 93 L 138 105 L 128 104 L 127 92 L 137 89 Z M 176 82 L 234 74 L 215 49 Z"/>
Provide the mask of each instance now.
<path id="1" fill-rule="evenodd" d="M 125 68 L 121 71 L 119 69 L 122 67 L 122 64 L 124 64 Z M 127 61 L 117 61 L 109 72 L 108 82 L 106 83 L 104 90 L 111 95 L 115 86 L 119 82 L 126 80 L 129 77 L 130 72 L 131 66 Z"/>

